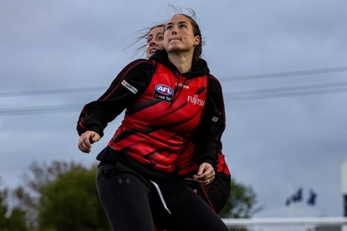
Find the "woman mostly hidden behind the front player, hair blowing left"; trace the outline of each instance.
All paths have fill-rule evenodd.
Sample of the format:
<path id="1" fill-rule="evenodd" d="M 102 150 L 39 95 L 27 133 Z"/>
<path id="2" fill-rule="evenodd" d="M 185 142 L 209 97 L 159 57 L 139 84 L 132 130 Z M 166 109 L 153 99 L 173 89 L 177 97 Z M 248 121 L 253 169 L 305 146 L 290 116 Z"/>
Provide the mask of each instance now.
<path id="1" fill-rule="evenodd" d="M 146 38 L 146 58 L 149 59 L 157 49 L 164 49 L 164 25 L 156 25 L 152 27 L 148 33 L 138 38 Z M 208 184 L 200 184 L 193 181 L 193 175 L 198 170 L 196 159 L 194 158 L 194 145 L 189 143 L 183 148 L 176 162 L 176 168 L 179 169 L 179 174 L 186 178 L 189 186 L 205 200 L 206 203 L 216 212 L 219 213 L 225 206 L 231 189 L 231 176 L 226 165 L 224 154 L 222 153 L 222 144 L 218 152 L 216 175 L 214 180 Z"/>

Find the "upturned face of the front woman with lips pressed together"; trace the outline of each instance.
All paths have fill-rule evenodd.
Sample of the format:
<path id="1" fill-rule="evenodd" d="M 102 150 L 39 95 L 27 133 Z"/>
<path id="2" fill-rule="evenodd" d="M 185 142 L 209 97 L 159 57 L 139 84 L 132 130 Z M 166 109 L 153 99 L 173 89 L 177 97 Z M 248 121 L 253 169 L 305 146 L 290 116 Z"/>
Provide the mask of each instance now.
<path id="1" fill-rule="evenodd" d="M 170 52 L 193 52 L 200 43 L 200 37 L 194 36 L 189 18 L 183 15 L 173 16 L 165 26 L 164 47 Z"/>

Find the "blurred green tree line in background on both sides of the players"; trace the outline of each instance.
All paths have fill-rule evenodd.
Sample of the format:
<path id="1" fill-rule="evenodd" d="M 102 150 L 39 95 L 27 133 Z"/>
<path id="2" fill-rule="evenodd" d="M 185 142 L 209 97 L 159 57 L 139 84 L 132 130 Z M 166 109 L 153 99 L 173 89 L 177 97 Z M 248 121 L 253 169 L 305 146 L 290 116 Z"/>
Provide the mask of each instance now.
<path id="1" fill-rule="evenodd" d="M 15 189 L 0 182 L 0 231 L 111 231 L 95 185 L 97 164 L 33 162 Z M 252 187 L 235 179 L 222 218 L 258 212 Z"/>

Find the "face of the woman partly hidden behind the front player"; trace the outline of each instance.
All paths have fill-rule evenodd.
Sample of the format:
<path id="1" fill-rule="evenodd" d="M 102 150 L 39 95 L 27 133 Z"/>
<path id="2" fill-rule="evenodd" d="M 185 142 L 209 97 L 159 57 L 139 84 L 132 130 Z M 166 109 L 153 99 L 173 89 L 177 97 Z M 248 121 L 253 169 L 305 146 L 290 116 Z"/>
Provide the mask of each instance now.
<path id="1" fill-rule="evenodd" d="M 147 37 L 146 58 L 151 57 L 157 49 L 164 49 L 164 27 L 153 28 Z"/>

